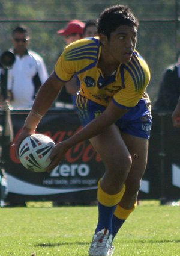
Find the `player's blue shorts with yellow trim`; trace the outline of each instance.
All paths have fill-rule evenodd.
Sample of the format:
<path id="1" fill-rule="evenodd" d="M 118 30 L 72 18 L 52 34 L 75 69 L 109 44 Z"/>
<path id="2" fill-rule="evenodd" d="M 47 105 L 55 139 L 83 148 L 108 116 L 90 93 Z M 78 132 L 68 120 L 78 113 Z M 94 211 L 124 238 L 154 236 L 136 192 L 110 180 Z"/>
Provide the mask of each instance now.
<path id="1" fill-rule="evenodd" d="M 80 122 L 87 125 L 95 117 L 106 110 L 103 105 L 97 104 L 83 96 L 77 94 L 76 100 Z M 124 114 L 116 125 L 119 130 L 132 136 L 149 139 L 152 125 L 151 103 L 149 98 L 140 99 L 139 103 Z"/>

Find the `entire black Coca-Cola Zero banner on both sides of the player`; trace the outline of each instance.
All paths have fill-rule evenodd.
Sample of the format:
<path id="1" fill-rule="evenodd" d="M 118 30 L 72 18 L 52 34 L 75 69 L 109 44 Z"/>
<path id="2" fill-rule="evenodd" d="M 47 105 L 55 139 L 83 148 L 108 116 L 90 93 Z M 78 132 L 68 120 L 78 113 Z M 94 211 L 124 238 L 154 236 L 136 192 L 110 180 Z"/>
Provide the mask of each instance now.
<path id="1" fill-rule="evenodd" d="M 11 111 L 14 139 L 28 115 L 28 110 Z M 2 125 L 3 112 L 0 111 Z M 49 110 L 41 120 L 37 133 L 50 136 L 55 143 L 72 136 L 81 128 L 76 111 Z M 64 161 L 51 173 L 26 170 L 16 158 L 14 148 L 2 145 L 10 201 L 53 200 L 88 202 L 97 198 L 97 183 L 104 173 L 104 164 L 91 144 L 81 142 L 71 148 Z M 180 129 L 172 126 L 171 114 L 153 114 L 149 140 L 148 165 L 139 199 L 180 198 Z"/>

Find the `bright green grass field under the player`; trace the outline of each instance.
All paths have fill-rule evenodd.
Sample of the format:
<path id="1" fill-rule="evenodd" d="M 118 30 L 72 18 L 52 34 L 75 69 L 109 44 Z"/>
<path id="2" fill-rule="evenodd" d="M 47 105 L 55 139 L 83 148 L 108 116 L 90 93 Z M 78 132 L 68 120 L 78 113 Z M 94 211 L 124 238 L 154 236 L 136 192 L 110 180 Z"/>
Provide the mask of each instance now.
<path id="1" fill-rule="evenodd" d="M 180 256 L 180 207 L 142 203 L 116 236 L 115 256 Z M 48 202 L 0 209 L 0 256 L 88 256 L 97 207 Z"/>

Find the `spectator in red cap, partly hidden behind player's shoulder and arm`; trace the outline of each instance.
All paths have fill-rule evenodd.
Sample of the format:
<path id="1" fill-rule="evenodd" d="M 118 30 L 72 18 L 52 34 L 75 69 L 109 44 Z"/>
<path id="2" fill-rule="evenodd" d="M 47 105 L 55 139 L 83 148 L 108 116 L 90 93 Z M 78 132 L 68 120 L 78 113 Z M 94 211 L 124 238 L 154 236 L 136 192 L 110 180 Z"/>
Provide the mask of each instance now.
<path id="1" fill-rule="evenodd" d="M 67 45 L 83 38 L 83 30 L 85 23 L 80 20 L 71 20 L 68 22 L 67 27 L 58 30 L 57 33 L 64 37 Z M 79 90 L 76 76 L 65 84 L 62 88 L 61 94 L 58 96 L 58 101 L 73 104 L 76 106 L 76 92 Z"/>

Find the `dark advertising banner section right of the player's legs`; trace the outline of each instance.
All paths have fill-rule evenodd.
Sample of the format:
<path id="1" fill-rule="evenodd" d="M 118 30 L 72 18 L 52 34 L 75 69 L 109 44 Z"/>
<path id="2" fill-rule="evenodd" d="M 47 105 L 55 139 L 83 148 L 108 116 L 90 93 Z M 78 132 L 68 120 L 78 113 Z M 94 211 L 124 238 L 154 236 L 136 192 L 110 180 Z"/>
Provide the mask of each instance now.
<path id="1" fill-rule="evenodd" d="M 149 195 L 141 195 L 162 203 L 180 199 L 180 128 L 173 127 L 171 116 L 172 113 L 152 113 L 145 173 L 151 186 Z"/>

